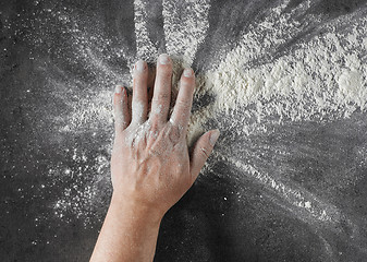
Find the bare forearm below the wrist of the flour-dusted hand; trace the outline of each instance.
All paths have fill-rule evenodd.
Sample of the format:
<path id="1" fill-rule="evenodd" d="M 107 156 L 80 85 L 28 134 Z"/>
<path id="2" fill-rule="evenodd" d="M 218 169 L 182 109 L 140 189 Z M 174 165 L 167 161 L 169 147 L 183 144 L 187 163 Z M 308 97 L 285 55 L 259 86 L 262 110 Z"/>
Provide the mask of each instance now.
<path id="1" fill-rule="evenodd" d="M 161 218 L 113 195 L 90 261 L 152 261 Z"/>

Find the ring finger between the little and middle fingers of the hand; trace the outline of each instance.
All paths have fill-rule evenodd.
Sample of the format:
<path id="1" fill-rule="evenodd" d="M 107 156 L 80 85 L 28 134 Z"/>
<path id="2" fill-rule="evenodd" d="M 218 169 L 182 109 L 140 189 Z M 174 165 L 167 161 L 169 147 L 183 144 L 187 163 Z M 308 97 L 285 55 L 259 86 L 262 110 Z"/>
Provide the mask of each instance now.
<path id="1" fill-rule="evenodd" d="M 132 121 L 135 123 L 143 123 L 147 119 L 147 63 L 143 60 L 139 60 L 135 64 L 133 83 Z"/>

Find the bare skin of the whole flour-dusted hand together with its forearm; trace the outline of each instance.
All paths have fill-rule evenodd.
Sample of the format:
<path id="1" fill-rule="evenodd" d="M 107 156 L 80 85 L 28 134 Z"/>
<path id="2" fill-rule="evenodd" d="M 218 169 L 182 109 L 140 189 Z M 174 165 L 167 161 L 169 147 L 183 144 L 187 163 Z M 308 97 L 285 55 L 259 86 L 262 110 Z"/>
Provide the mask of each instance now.
<path id="1" fill-rule="evenodd" d="M 189 153 L 194 72 L 186 69 L 188 74 L 181 75 L 169 116 L 172 60 L 161 55 L 156 70 L 151 100 L 145 61 L 135 64 L 131 105 L 125 88 L 118 86 L 113 96 L 113 193 L 93 262 L 152 261 L 163 215 L 192 187 L 219 136 L 218 130 L 203 134 Z"/>

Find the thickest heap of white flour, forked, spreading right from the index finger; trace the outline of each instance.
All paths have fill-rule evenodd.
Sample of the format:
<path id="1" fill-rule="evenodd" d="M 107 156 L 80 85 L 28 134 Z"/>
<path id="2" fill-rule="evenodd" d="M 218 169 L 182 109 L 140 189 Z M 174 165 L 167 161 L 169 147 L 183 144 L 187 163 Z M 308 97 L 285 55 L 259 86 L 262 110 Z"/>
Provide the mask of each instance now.
<path id="1" fill-rule="evenodd" d="M 216 100 L 192 117 L 193 138 L 198 130 L 203 132 L 200 127 L 206 119 L 213 118 L 217 112 L 229 114 L 249 105 L 256 106 L 252 112 L 257 124 L 274 115 L 280 121 L 331 120 L 365 109 L 367 72 L 358 56 L 366 53 L 363 36 L 367 35 L 367 20 L 362 16 L 351 21 L 353 33 L 346 35 L 333 33 L 337 26 L 330 24 L 327 26 L 330 33 L 325 36 L 301 43 L 289 55 L 271 62 L 248 67 L 248 61 L 261 58 L 267 49 L 279 48 L 288 37 L 303 29 L 292 16 L 280 13 L 281 7 L 276 8 L 265 21 L 258 25 L 254 23 L 223 61 L 199 76 L 205 83 L 200 92 L 211 93 Z"/>

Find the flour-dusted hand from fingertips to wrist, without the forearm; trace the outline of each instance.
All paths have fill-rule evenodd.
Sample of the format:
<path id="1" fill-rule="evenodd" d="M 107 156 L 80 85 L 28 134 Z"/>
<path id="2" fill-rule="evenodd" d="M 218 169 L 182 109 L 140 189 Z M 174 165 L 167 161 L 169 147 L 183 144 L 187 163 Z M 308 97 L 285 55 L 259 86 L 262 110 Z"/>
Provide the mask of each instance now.
<path id="1" fill-rule="evenodd" d="M 134 69 L 132 114 L 125 88 L 117 86 L 113 97 L 115 138 L 111 174 L 113 198 L 143 206 L 160 216 L 191 188 L 219 136 L 211 130 L 198 139 L 188 153 L 187 124 L 191 116 L 195 75 L 185 69 L 172 115 L 172 61 L 161 55 L 148 117 L 148 67 L 138 61 Z"/>

